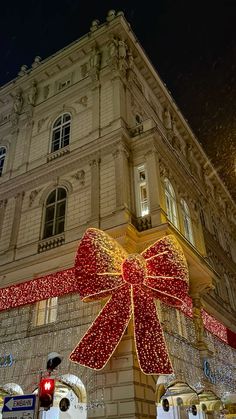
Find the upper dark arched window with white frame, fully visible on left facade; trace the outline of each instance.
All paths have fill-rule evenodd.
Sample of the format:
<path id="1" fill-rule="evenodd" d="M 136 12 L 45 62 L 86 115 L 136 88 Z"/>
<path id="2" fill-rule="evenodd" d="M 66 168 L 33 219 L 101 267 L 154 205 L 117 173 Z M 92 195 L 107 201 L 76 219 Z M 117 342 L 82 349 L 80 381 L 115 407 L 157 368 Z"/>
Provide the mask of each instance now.
<path id="1" fill-rule="evenodd" d="M 68 113 L 65 113 L 53 124 L 52 128 L 52 143 L 51 143 L 51 153 L 59 150 L 60 148 L 66 147 L 70 142 L 70 125 L 71 125 L 71 116 Z"/>

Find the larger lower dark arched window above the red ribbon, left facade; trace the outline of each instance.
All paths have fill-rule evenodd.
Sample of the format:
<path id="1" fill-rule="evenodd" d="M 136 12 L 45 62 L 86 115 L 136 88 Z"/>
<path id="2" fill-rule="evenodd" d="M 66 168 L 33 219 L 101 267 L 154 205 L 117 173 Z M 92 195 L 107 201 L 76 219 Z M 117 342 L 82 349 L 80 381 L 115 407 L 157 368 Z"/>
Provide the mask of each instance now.
<path id="1" fill-rule="evenodd" d="M 65 227 L 66 190 L 56 188 L 46 200 L 43 238 L 61 234 Z"/>

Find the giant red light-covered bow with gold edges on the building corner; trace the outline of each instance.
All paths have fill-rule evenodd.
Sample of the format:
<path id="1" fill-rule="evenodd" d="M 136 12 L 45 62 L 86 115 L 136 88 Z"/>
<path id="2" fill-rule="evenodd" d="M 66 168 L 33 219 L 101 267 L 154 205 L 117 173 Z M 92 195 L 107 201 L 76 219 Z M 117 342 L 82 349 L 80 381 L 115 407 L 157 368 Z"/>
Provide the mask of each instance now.
<path id="1" fill-rule="evenodd" d="M 187 264 L 174 236 L 158 240 L 141 255 L 128 255 L 106 233 L 90 228 L 77 252 L 75 278 L 83 301 L 111 298 L 71 353 L 72 361 L 103 368 L 133 314 L 141 370 L 172 372 L 154 299 L 177 307 L 187 293 Z"/>

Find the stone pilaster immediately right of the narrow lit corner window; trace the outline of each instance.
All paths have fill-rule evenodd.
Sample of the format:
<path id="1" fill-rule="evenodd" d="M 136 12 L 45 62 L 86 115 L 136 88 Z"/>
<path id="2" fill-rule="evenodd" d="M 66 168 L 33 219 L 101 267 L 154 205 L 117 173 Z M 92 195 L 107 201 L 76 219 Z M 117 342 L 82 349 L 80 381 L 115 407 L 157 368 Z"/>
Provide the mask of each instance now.
<path id="1" fill-rule="evenodd" d="M 161 223 L 161 178 L 159 160 L 156 150 L 149 150 L 145 154 L 145 160 L 148 178 L 150 214 L 152 219 L 152 227 L 155 227 Z"/>

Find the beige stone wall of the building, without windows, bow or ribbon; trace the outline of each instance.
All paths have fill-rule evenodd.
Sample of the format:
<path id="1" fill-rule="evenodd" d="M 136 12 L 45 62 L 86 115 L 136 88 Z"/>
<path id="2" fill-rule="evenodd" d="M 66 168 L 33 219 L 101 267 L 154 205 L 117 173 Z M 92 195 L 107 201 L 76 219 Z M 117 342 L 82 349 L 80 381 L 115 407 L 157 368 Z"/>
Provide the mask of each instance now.
<path id="1" fill-rule="evenodd" d="M 111 43 L 123 39 L 126 52 L 114 54 Z M 236 332 L 235 204 L 124 18 L 34 65 L 0 93 L 0 147 L 7 149 L 0 177 L 1 287 L 73 266 L 90 226 L 108 231 L 129 252 L 171 233 L 187 258 L 193 300 Z M 53 124 L 65 113 L 71 115 L 70 142 L 52 153 Z M 139 211 L 139 167 L 146 173 L 145 216 Z M 169 219 L 166 179 L 174 188 L 178 227 Z M 45 203 L 56 187 L 67 191 L 65 229 L 43 239 Z M 194 243 L 186 239 L 182 199 Z M 2 369 L 0 384 L 14 381 L 32 391 L 47 353 L 57 349 L 64 356 L 61 371 L 80 376 L 89 397 L 104 400 L 92 417 L 155 416 L 157 377 L 140 372 L 132 327 L 104 372 L 88 372 L 67 359 L 100 304 L 60 297 L 56 322 L 40 327 L 32 323 L 35 307 L 0 313 L 1 353 L 14 358 Z M 217 391 L 203 375 L 202 357 L 210 349 L 197 345 L 195 320 L 159 309 L 178 378 Z M 226 356 L 234 374 L 235 351 L 211 335 L 205 340 L 214 368 L 223 370 Z M 220 391 L 231 389 L 223 377 Z"/>

